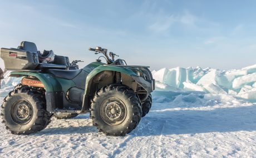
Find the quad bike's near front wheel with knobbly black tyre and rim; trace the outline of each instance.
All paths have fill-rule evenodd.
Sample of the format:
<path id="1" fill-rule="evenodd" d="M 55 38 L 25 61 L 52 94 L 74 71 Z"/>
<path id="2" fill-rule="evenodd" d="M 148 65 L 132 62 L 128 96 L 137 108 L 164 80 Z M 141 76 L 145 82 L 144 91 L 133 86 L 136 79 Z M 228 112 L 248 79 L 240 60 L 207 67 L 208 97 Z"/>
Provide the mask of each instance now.
<path id="1" fill-rule="evenodd" d="M 98 91 L 91 104 L 93 126 L 107 135 L 125 135 L 136 128 L 141 119 L 141 104 L 132 89 L 125 85 L 109 85 Z"/>

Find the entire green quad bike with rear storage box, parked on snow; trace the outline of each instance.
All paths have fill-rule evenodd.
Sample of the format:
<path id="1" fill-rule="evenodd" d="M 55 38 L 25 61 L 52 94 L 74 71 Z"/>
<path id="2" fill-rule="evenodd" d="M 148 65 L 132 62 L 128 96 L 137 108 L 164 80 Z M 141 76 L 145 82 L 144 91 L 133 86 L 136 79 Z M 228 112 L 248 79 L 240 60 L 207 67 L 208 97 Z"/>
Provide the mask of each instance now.
<path id="1" fill-rule="evenodd" d="M 103 55 L 78 69 L 78 61 L 72 65 L 60 55 L 53 60 L 32 42 L 24 41 L 18 49 L 1 48 L 6 70 L 12 70 L 9 77 L 22 78 L 1 106 L 6 129 L 31 134 L 45 129 L 52 115 L 62 119 L 90 113 L 93 126 L 107 135 L 134 130 L 152 104 L 155 81 L 149 67 L 126 65 L 112 52 L 110 59 L 101 47 L 89 50 Z M 46 58 L 51 63 L 40 62 Z"/>

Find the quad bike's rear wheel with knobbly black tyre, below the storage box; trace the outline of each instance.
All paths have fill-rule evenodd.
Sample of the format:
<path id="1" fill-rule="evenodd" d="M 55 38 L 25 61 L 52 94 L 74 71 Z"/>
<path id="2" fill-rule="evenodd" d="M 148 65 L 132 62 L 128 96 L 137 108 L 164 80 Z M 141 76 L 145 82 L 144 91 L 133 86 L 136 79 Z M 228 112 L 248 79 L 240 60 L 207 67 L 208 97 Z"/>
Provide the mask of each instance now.
<path id="1" fill-rule="evenodd" d="M 12 134 L 31 134 L 41 131 L 51 122 L 46 111 L 45 96 L 37 89 L 16 86 L 3 100 L 2 119 Z"/>

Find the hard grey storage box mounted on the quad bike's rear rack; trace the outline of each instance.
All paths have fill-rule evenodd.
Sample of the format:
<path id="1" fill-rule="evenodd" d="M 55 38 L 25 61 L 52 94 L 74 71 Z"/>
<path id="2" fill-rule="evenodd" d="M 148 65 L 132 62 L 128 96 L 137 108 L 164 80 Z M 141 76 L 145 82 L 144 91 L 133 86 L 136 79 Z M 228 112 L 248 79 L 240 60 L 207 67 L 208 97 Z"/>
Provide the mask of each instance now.
<path id="1" fill-rule="evenodd" d="M 1 48 L 1 58 L 7 70 L 34 70 L 38 64 L 38 54 L 22 49 Z"/>

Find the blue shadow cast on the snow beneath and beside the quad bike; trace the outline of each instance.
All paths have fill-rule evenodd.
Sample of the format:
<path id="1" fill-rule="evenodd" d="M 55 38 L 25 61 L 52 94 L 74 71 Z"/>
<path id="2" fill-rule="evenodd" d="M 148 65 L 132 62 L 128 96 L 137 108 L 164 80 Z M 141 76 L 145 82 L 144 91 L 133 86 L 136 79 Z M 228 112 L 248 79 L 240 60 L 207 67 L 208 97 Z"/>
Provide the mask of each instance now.
<path id="1" fill-rule="evenodd" d="M 189 95 L 189 93 L 187 94 Z M 199 94 L 199 98 L 200 95 L 202 94 Z M 140 124 L 130 135 L 151 136 L 256 130 L 256 105 L 215 110 L 169 111 L 155 111 L 166 109 L 166 105 L 153 106 L 154 110 L 141 119 Z M 76 119 L 88 119 L 88 116 L 79 115 L 73 121 L 76 121 Z M 88 132 L 96 133 L 97 129 L 93 126 L 70 126 L 67 128 L 47 128 L 37 134 L 85 134 Z"/>

